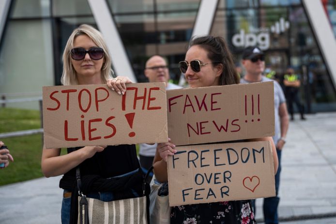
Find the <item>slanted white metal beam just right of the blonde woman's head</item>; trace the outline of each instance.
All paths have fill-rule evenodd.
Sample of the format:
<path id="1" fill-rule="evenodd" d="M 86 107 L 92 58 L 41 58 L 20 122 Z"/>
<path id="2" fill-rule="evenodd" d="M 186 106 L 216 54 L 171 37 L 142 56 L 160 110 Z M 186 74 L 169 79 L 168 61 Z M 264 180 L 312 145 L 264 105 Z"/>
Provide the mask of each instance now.
<path id="1" fill-rule="evenodd" d="M 108 49 L 111 52 L 115 73 L 127 76 L 133 82 L 137 82 L 106 0 L 88 0 L 88 2 L 97 26 L 103 33 Z"/>

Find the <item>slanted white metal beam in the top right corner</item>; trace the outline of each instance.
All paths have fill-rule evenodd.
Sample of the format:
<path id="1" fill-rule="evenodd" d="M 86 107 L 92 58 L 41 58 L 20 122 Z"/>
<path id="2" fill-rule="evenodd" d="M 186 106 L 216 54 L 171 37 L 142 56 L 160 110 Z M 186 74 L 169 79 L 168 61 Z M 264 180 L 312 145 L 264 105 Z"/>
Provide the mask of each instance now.
<path id="1" fill-rule="evenodd" d="M 302 2 L 331 75 L 331 80 L 336 87 L 336 39 L 323 9 L 322 1 L 303 0 Z"/>

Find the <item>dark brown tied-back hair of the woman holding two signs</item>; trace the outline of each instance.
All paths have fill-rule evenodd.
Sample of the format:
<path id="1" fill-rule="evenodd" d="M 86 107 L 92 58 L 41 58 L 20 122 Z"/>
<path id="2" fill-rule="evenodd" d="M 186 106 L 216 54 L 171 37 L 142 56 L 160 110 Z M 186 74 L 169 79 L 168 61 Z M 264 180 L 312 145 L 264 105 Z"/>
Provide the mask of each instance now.
<path id="1" fill-rule="evenodd" d="M 233 63 L 232 54 L 224 38 L 211 35 L 194 37 L 189 42 L 188 49 L 194 45 L 198 45 L 206 50 L 208 58 L 214 62 L 214 65 L 223 64 L 223 72 L 219 78 L 220 85 L 238 84 L 240 82 L 239 75 Z"/>

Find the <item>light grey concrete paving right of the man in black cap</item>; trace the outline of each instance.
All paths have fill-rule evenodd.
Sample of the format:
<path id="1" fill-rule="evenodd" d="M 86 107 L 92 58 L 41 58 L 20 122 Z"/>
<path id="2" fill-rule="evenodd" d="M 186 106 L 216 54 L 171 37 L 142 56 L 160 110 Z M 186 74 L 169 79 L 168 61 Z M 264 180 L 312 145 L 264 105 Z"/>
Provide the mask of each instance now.
<path id="1" fill-rule="evenodd" d="M 278 212 L 284 221 L 336 217 L 336 113 L 306 118 L 290 121 L 282 152 Z M 262 199 L 257 199 L 258 220 L 262 220 L 261 206 Z"/>

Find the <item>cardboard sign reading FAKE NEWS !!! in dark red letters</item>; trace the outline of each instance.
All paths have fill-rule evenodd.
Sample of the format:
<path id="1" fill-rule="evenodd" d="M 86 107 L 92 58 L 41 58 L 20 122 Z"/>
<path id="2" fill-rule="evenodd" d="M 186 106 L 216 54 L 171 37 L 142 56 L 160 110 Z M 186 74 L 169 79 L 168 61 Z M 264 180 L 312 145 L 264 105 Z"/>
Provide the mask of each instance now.
<path id="1" fill-rule="evenodd" d="M 167 91 L 168 136 L 175 145 L 273 136 L 273 82 Z"/>

